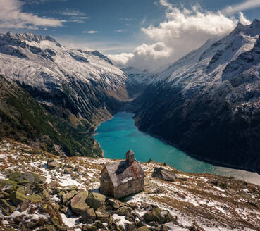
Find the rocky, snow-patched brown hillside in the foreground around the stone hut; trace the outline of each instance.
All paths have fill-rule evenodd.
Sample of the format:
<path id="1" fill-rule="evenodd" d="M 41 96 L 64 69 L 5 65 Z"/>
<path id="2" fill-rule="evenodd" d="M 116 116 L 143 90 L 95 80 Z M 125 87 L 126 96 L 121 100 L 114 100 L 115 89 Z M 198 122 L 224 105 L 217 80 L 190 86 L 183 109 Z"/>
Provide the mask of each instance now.
<path id="1" fill-rule="evenodd" d="M 257 185 L 150 162 L 144 192 L 118 201 L 99 193 L 113 161 L 0 142 L 0 230 L 260 230 Z M 152 176 L 161 167 L 165 180 Z"/>

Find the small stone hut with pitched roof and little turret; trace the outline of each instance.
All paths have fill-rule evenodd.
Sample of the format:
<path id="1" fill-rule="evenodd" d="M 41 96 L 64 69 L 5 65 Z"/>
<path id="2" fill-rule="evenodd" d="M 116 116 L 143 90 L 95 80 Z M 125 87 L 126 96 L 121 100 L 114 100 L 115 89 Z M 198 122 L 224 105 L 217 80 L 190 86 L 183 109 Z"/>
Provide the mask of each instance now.
<path id="1" fill-rule="evenodd" d="M 144 189 L 144 171 L 130 149 L 125 161 L 106 164 L 100 173 L 100 192 L 121 198 Z"/>

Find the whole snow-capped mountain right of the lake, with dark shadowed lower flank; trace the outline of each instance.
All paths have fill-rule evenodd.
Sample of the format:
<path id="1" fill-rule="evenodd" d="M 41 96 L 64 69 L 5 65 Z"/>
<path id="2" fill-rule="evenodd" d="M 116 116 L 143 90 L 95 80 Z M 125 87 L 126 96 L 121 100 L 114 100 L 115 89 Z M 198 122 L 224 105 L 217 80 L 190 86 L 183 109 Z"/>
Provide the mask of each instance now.
<path id="1" fill-rule="evenodd" d="M 135 101 L 137 125 L 201 158 L 259 170 L 259 35 L 259 20 L 239 23 L 158 73 Z"/>

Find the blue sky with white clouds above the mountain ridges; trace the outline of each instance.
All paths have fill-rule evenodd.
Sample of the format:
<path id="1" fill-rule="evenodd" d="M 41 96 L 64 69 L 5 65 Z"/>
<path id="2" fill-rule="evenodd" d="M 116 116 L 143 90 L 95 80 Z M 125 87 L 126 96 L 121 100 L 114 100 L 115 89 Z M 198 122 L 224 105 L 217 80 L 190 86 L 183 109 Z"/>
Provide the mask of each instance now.
<path id="1" fill-rule="evenodd" d="M 147 45 L 142 49 L 161 50 L 164 46 L 175 49 L 178 44 L 176 38 L 177 43 L 171 46 L 167 40 L 171 40 L 171 37 L 167 39 L 161 37 L 160 40 L 152 33 L 164 33 L 163 30 L 166 28 L 162 30 L 163 25 L 160 23 L 171 22 L 169 25 L 172 26 L 174 23 L 179 23 L 176 18 L 182 15 L 185 15 L 186 20 L 182 20 L 181 27 L 185 27 L 185 23 L 197 20 L 191 18 L 191 15 L 196 15 L 198 18 L 200 17 L 198 13 L 206 17 L 209 13 L 214 16 L 221 11 L 225 18 L 218 17 L 217 20 L 222 20 L 223 25 L 225 20 L 227 24 L 230 24 L 228 20 L 232 20 L 235 25 L 240 20 L 240 12 L 244 13 L 246 22 L 260 15 L 260 0 L 0 0 L 0 4 L 0 32 L 11 30 L 51 35 L 66 46 L 98 49 L 104 54 L 112 55 L 135 54 L 135 49 L 142 44 Z M 191 13 L 186 14 L 183 8 Z M 181 12 L 176 15 L 178 9 Z M 171 12 L 175 12 L 175 15 L 171 15 Z M 205 24 L 205 20 L 199 20 L 197 23 Z M 151 29 L 150 25 L 153 25 L 154 29 Z M 221 33 L 229 32 L 234 25 L 230 24 L 225 29 L 222 26 Z M 191 35 L 194 35 L 194 27 L 187 33 L 192 32 Z M 151 30 L 145 31 L 147 28 Z M 161 30 L 156 31 L 156 28 Z M 174 33 L 176 28 L 172 27 L 171 30 L 170 32 Z M 181 28 L 178 27 L 178 30 Z M 202 30 L 204 31 L 204 28 Z M 207 33 L 209 38 L 214 36 L 213 32 Z M 158 44 L 159 42 L 163 44 Z M 189 49 L 203 42 L 194 42 L 194 46 L 190 46 Z M 175 54 L 182 56 L 183 52 Z"/>

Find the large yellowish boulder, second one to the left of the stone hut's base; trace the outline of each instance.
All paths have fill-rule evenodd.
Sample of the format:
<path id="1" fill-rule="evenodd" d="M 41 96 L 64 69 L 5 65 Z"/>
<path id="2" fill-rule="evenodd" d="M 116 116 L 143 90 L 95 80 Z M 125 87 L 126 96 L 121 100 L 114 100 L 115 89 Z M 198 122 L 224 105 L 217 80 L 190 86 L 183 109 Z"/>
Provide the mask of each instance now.
<path id="1" fill-rule="evenodd" d="M 79 192 L 77 195 L 73 197 L 70 201 L 70 206 L 71 210 L 74 213 L 77 213 L 80 215 L 83 211 L 85 211 L 89 206 L 86 204 L 86 199 L 87 199 L 88 192 L 87 191 L 82 191 Z"/>

